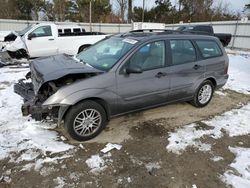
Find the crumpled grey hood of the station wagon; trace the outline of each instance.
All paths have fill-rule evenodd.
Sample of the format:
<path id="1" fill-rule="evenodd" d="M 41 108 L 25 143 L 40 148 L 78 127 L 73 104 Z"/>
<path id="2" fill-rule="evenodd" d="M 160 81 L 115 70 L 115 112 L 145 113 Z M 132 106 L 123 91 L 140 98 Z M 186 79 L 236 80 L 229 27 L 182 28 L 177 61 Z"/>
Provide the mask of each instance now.
<path id="1" fill-rule="evenodd" d="M 30 63 L 30 71 L 36 94 L 44 83 L 67 75 L 103 73 L 103 71 L 84 65 L 66 54 L 35 59 Z"/>

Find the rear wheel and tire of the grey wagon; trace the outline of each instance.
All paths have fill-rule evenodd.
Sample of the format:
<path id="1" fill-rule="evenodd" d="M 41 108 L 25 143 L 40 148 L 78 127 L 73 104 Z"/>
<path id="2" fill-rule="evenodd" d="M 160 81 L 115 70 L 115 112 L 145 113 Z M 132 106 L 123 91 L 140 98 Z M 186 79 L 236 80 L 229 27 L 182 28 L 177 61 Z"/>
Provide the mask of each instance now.
<path id="1" fill-rule="evenodd" d="M 196 107 L 204 107 L 211 101 L 213 97 L 213 93 L 214 93 L 213 83 L 210 80 L 205 80 L 197 88 L 194 98 L 191 101 L 191 103 Z"/>

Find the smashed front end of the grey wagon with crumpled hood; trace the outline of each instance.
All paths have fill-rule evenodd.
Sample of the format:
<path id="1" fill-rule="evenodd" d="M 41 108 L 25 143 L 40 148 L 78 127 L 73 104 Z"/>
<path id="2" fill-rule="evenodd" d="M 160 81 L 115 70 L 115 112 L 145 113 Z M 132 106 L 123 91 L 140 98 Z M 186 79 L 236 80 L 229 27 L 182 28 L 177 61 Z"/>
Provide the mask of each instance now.
<path id="1" fill-rule="evenodd" d="M 59 118 L 60 122 L 65 106 L 44 106 L 43 103 L 60 88 L 100 73 L 103 71 L 88 67 L 67 55 L 34 60 L 30 63 L 26 79 L 14 85 L 14 92 L 24 99 L 23 116 L 31 115 L 36 120 Z"/>

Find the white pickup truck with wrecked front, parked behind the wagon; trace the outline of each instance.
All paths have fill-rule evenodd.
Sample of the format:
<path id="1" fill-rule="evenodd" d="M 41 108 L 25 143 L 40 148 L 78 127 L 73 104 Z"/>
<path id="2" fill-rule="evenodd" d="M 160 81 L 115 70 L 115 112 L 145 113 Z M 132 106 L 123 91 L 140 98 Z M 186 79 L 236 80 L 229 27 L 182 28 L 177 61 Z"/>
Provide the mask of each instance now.
<path id="1" fill-rule="evenodd" d="M 76 55 L 84 48 L 104 39 L 99 32 L 85 32 L 77 25 L 39 23 L 5 37 L 2 51 L 12 58 L 35 58 L 56 54 Z"/>

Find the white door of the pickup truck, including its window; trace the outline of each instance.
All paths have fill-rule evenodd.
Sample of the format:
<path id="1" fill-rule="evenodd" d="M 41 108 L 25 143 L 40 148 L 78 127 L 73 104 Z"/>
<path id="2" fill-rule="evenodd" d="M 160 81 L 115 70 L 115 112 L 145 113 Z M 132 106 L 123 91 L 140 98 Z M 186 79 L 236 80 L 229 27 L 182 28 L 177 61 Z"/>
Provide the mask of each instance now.
<path id="1" fill-rule="evenodd" d="M 50 25 L 43 25 L 30 34 L 33 37 L 29 39 L 26 36 L 26 46 L 30 57 L 50 56 L 57 54 L 58 48 L 56 44 L 56 36 L 52 33 Z"/>

